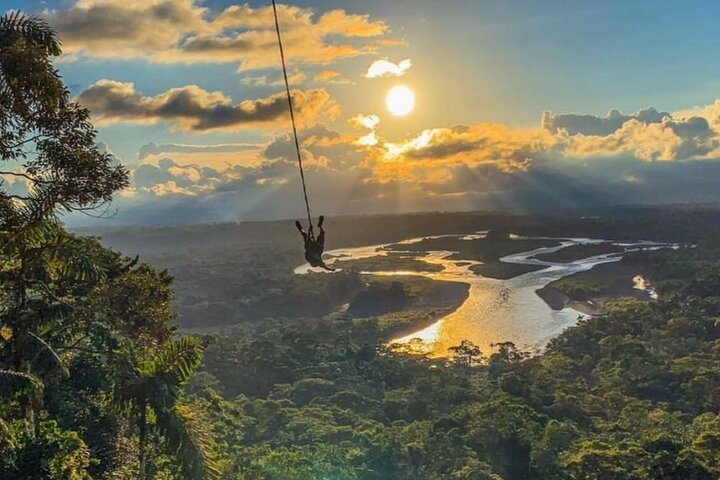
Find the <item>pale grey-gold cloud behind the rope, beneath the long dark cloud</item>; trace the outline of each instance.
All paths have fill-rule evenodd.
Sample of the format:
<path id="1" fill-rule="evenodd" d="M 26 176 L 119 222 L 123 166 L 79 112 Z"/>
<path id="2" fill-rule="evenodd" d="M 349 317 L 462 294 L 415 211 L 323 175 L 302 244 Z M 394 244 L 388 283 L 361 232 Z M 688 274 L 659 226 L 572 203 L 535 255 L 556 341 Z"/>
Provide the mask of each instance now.
<path id="1" fill-rule="evenodd" d="M 334 182 L 361 163 L 363 153 L 354 148 L 354 137 L 332 131 L 322 125 L 299 132 L 303 164 L 313 180 Z M 253 161 L 226 162 L 215 156 L 248 154 Z M 201 198 L 235 192 L 250 198 L 268 189 L 296 184 L 299 178 L 295 143 L 290 135 L 280 135 L 266 144 L 184 145 L 149 143 L 138 154 L 132 169 L 131 187 L 124 199 L 152 202 L 158 197 Z"/>

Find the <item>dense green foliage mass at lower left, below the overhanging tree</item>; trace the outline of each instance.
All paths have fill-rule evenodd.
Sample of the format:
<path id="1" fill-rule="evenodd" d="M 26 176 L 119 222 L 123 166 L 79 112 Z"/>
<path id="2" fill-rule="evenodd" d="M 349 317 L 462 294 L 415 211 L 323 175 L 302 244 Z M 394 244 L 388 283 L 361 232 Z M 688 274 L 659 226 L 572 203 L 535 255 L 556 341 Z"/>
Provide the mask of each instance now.
<path id="1" fill-rule="evenodd" d="M 167 274 L 56 223 L 22 233 L 0 264 L 0 476 L 218 478 Z"/>

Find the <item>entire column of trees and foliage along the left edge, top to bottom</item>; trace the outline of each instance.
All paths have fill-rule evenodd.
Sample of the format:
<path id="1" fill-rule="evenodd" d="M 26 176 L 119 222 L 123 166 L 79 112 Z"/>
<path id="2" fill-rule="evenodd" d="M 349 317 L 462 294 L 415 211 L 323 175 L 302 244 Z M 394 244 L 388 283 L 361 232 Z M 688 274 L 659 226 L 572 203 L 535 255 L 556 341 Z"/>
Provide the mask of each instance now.
<path id="1" fill-rule="evenodd" d="M 42 20 L 0 16 L 0 477 L 218 478 L 183 403 L 202 346 L 173 336 L 171 277 L 58 220 L 128 181 L 59 54 Z"/>

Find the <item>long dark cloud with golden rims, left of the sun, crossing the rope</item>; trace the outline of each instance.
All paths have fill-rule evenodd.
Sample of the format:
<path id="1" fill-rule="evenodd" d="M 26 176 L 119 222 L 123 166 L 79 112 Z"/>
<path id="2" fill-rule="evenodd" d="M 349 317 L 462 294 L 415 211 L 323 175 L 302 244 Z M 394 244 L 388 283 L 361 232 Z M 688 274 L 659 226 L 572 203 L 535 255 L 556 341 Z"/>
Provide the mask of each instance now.
<path id="1" fill-rule="evenodd" d="M 296 119 L 301 125 L 340 114 L 340 107 L 324 89 L 293 90 L 292 95 Z M 167 121 L 181 130 L 210 131 L 272 127 L 287 122 L 285 93 L 233 104 L 223 93 L 209 92 L 197 85 L 172 88 L 149 97 L 138 93 L 132 83 L 99 80 L 77 99 L 92 111 L 98 125 Z"/>

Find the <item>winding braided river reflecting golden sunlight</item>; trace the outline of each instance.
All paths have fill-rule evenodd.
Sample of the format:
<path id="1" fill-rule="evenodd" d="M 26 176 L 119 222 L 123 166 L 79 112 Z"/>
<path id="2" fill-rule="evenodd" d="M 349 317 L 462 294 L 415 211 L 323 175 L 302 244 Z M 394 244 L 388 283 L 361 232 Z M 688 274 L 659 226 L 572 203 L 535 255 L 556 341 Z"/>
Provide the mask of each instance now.
<path id="1" fill-rule="evenodd" d="M 473 241 L 483 238 L 486 232 L 477 232 L 469 235 L 454 235 L 462 240 Z M 450 235 L 448 235 L 450 236 Z M 432 237 L 438 238 L 438 237 Z M 518 237 L 511 238 L 540 238 Z M 547 237 L 542 237 L 547 239 Z M 423 238 L 408 239 L 400 244 L 411 244 L 422 241 Z M 392 343 L 407 344 L 413 342 L 433 356 L 447 355 L 448 348 L 459 345 L 462 340 L 469 340 L 478 345 L 483 352 L 490 352 L 493 343 L 511 341 L 518 347 L 536 352 L 548 340 L 561 333 L 565 328 L 577 323 L 582 313 L 571 308 L 552 310 L 535 291 L 550 282 L 566 277 L 573 273 L 589 270 L 595 265 L 617 262 L 622 259 L 622 253 L 612 253 L 583 258 L 568 263 L 554 263 L 538 260 L 536 255 L 551 253 L 571 245 L 602 243 L 606 240 L 590 238 L 552 238 L 559 245 L 538 248 L 526 252 L 505 256 L 500 260 L 508 263 L 539 265 L 545 268 L 518 275 L 507 280 L 487 278 L 472 272 L 469 267 L 479 262 L 463 259 L 449 259 L 454 252 L 431 251 L 425 256 L 418 257 L 429 264 L 443 267 L 440 272 L 410 272 L 410 271 L 380 271 L 363 272 L 365 275 L 419 275 L 436 280 L 462 282 L 470 285 L 468 297 L 454 312 L 439 319 L 429 327 L 423 328 L 410 335 L 395 338 Z M 622 246 L 625 252 L 639 249 L 665 248 L 668 245 L 656 242 L 639 241 L 632 243 L 614 243 Z M 388 252 L 398 252 L 397 245 L 390 250 L 390 244 L 371 245 L 359 248 L 344 248 L 326 252 L 328 263 L 335 259 L 360 259 L 387 255 Z M 309 265 L 301 265 L 295 273 L 303 274 L 310 271 Z M 414 340 L 413 339 L 420 339 Z"/>

